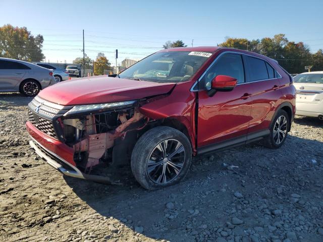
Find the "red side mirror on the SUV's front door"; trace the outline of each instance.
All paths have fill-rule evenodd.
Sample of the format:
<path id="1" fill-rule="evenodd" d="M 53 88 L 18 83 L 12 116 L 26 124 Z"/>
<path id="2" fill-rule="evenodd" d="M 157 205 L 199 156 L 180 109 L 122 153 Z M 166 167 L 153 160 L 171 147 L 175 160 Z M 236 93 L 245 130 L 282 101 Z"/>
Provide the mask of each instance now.
<path id="1" fill-rule="evenodd" d="M 208 95 L 213 96 L 217 91 L 230 92 L 236 85 L 237 79 L 230 76 L 218 75 L 212 80 L 211 90 L 208 91 Z"/>

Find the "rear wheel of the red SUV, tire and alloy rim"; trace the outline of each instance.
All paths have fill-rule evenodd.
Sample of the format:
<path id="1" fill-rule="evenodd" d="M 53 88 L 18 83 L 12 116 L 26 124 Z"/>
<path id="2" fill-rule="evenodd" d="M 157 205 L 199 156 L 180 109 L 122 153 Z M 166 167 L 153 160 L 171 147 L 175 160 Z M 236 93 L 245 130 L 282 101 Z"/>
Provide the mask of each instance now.
<path id="1" fill-rule="evenodd" d="M 290 126 L 291 122 L 287 112 L 279 110 L 270 127 L 271 133 L 264 139 L 263 145 L 271 149 L 280 148 L 286 141 Z"/>

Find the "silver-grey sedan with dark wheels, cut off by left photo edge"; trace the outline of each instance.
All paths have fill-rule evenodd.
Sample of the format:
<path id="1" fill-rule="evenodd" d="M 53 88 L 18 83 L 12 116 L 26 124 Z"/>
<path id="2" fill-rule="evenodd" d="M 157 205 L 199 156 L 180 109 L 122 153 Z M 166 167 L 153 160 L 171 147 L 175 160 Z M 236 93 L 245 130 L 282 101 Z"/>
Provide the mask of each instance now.
<path id="1" fill-rule="evenodd" d="M 0 58 L 0 92 L 36 96 L 52 84 L 55 84 L 52 71 L 17 59 Z"/>

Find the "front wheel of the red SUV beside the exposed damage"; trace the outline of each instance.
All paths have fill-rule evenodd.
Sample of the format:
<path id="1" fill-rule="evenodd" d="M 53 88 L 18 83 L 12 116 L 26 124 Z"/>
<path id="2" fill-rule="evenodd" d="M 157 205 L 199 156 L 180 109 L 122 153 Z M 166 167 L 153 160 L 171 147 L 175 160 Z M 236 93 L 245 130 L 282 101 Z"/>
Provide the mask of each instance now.
<path id="1" fill-rule="evenodd" d="M 131 170 L 138 183 L 156 190 L 179 183 L 187 174 L 192 147 L 180 131 L 160 126 L 143 134 L 131 156 Z"/>

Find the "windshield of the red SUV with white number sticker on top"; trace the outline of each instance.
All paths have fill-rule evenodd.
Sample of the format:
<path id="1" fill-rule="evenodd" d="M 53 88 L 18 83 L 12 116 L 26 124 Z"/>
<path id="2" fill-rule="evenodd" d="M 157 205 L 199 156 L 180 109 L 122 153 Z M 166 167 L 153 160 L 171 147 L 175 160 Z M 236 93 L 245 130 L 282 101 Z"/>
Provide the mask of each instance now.
<path id="1" fill-rule="evenodd" d="M 212 55 L 209 52 L 167 51 L 154 53 L 119 74 L 120 78 L 151 82 L 185 82 Z"/>

